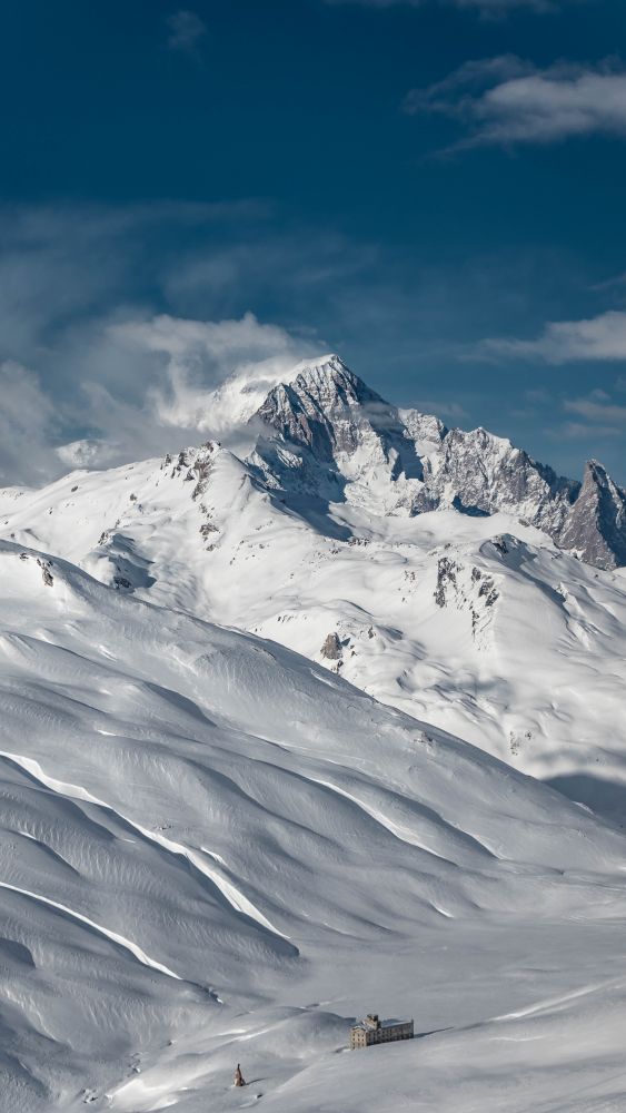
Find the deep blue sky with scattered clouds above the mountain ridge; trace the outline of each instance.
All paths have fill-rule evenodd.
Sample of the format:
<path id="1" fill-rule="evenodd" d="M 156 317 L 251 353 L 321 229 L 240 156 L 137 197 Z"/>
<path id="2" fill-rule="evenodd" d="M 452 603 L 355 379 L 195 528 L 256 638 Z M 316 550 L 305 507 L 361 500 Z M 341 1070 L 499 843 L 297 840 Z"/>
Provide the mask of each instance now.
<path id="1" fill-rule="evenodd" d="M 626 483 L 624 0 L 21 0 L 0 75 L 4 482 L 338 351 Z"/>

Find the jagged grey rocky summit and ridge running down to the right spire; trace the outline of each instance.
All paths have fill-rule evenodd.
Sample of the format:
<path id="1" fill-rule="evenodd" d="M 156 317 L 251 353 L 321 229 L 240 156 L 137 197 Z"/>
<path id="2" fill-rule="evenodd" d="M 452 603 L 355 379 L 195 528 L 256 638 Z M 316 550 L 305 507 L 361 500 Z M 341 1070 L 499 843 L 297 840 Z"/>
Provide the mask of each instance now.
<path id="1" fill-rule="evenodd" d="M 626 492 L 592 462 L 582 486 L 484 429 L 397 410 L 338 356 L 300 367 L 257 411 L 250 463 L 270 487 L 378 515 L 504 511 L 598 568 L 626 564 Z"/>

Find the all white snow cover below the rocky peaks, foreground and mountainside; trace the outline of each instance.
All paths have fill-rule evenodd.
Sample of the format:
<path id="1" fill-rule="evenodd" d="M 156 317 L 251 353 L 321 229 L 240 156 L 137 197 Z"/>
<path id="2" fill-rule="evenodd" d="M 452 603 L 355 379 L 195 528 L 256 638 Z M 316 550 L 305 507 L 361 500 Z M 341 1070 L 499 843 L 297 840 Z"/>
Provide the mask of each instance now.
<path id="1" fill-rule="evenodd" d="M 626 1109 L 624 570 L 345 421 L 0 492 L 2 1113 Z"/>

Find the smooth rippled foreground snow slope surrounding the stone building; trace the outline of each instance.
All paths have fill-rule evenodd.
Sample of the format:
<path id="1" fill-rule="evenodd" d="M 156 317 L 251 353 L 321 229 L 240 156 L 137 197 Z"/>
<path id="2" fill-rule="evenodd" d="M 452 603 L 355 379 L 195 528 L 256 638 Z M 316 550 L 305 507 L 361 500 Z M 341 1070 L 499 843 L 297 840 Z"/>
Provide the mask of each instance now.
<path id="1" fill-rule="evenodd" d="M 589 1024 L 578 1089 L 607 1093 L 620 831 L 276 643 L 8 542 L 0 614 L 2 1113 L 521 1110 L 504 1065 L 570 1097 Z M 338 1056 L 370 1007 L 440 1031 Z"/>

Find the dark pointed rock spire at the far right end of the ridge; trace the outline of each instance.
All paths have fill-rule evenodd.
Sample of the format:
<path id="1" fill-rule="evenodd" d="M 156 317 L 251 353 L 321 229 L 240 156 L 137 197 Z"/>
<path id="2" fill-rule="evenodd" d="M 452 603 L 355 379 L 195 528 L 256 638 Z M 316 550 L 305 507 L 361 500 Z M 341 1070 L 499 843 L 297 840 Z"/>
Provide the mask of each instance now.
<path id="1" fill-rule="evenodd" d="M 626 492 L 596 460 L 590 460 L 585 469 L 580 494 L 559 543 L 596 568 L 626 564 Z"/>

